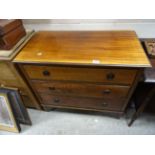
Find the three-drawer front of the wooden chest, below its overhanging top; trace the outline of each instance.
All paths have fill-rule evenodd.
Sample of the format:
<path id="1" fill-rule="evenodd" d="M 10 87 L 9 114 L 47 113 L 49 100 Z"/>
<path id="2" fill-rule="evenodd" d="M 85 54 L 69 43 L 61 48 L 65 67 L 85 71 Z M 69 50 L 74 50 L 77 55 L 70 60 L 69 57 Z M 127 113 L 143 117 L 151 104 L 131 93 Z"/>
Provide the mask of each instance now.
<path id="1" fill-rule="evenodd" d="M 86 110 L 88 106 L 90 110 L 122 114 L 139 75 L 138 68 L 40 63 L 18 65 L 45 109 L 68 107 Z M 111 73 L 114 77 L 109 78 L 107 75 Z M 61 104 L 55 104 L 57 97 Z M 102 105 L 105 100 L 108 107 Z"/>

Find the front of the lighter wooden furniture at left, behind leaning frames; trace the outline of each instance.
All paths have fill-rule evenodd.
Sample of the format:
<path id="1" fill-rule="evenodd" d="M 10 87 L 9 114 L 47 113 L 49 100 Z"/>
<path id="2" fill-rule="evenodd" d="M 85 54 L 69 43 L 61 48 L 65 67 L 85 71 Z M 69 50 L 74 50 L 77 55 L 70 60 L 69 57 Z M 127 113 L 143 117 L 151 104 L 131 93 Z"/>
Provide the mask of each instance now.
<path id="1" fill-rule="evenodd" d="M 18 88 L 26 107 L 40 109 L 38 101 L 12 62 L 1 60 L 0 71 L 0 86 Z"/>

